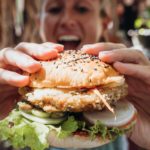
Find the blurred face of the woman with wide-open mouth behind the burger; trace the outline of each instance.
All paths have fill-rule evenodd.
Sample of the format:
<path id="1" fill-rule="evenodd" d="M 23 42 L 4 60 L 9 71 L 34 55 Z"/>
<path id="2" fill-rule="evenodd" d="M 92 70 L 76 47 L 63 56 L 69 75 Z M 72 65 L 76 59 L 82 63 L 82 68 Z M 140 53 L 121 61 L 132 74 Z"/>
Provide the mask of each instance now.
<path id="1" fill-rule="evenodd" d="M 79 49 L 98 42 L 102 33 L 99 0 L 45 0 L 41 12 L 40 34 L 44 42 Z"/>

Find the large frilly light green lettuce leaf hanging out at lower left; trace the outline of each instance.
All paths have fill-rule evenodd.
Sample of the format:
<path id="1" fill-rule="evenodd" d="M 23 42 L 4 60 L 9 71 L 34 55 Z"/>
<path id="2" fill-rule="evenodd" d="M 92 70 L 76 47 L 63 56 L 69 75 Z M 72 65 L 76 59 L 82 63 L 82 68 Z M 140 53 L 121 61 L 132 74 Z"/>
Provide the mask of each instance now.
<path id="1" fill-rule="evenodd" d="M 18 111 L 0 121 L 0 139 L 9 141 L 14 148 L 31 147 L 32 150 L 44 150 L 48 147 L 49 128 L 43 124 L 24 119 Z"/>

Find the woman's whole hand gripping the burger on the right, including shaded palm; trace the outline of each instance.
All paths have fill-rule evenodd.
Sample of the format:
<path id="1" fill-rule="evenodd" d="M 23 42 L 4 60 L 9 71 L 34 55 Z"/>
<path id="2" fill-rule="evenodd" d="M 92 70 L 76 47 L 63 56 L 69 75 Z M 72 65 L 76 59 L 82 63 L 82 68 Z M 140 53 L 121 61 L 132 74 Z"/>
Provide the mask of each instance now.
<path id="1" fill-rule="evenodd" d="M 83 51 L 98 55 L 125 75 L 129 86 L 126 97 L 138 110 L 137 124 L 131 140 L 143 148 L 150 148 L 150 61 L 142 52 L 127 48 L 122 44 L 97 43 L 85 45 Z"/>

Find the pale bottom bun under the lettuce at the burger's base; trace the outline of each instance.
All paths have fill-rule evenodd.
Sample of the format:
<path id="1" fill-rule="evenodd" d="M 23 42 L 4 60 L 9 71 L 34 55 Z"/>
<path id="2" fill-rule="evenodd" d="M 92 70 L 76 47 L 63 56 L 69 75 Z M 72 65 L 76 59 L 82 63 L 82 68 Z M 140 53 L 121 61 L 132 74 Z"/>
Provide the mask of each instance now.
<path id="1" fill-rule="evenodd" d="M 56 148 L 94 148 L 110 142 L 109 139 L 100 137 L 92 140 L 89 136 L 72 135 L 64 139 L 57 138 L 56 132 L 51 131 L 48 136 L 50 146 Z"/>

